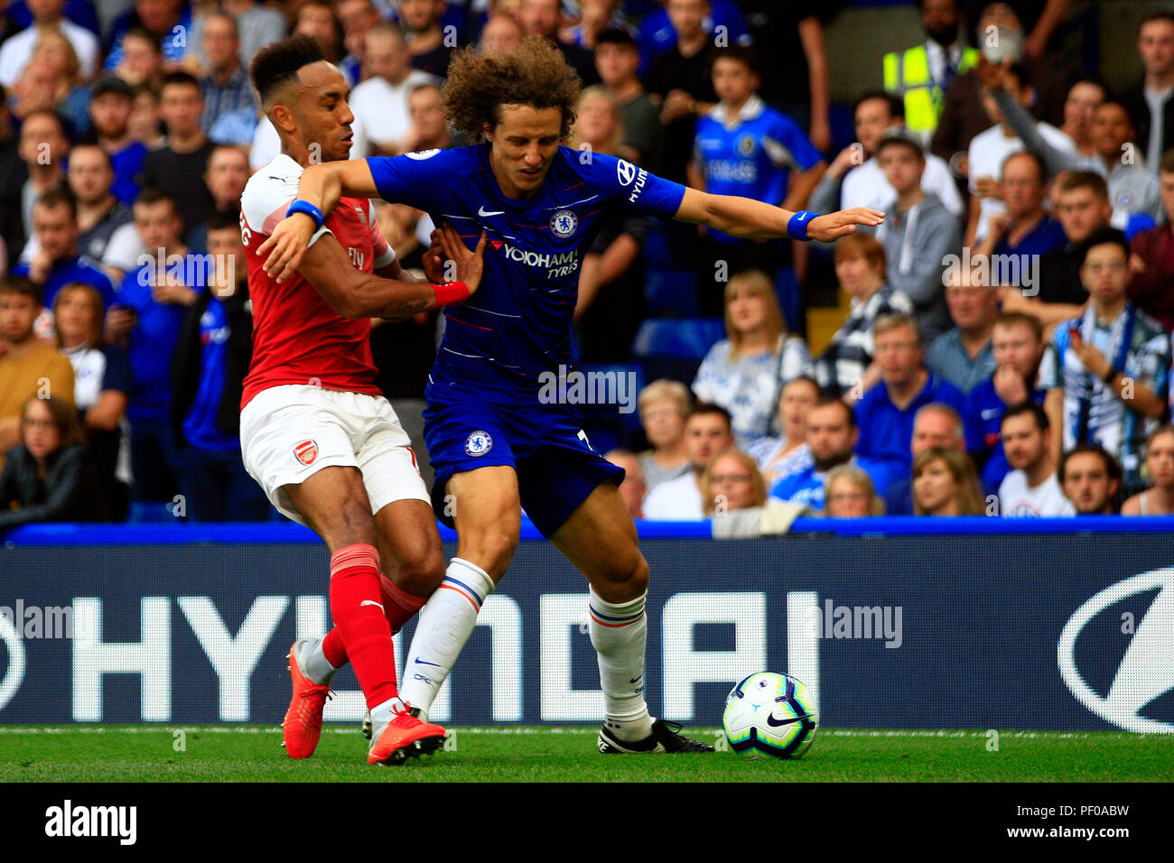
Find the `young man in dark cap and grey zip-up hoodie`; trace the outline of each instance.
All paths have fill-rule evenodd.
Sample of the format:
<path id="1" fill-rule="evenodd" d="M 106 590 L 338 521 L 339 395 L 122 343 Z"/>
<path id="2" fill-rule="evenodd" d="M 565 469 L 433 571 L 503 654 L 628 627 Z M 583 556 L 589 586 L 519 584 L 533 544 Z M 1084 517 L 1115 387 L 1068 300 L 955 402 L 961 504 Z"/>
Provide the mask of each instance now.
<path id="1" fill-rule="evenodd" d="M 946 255 L 962 248 L 962 225 L 940 198 L 922 189 L 925 150 L 904 127 L 888 129 L 877 163 L 897 193 L 877 238 L 885 251 L 885 282 L 913 301 L 925 342 L 950 326 L 942 271 Z"/>

